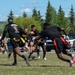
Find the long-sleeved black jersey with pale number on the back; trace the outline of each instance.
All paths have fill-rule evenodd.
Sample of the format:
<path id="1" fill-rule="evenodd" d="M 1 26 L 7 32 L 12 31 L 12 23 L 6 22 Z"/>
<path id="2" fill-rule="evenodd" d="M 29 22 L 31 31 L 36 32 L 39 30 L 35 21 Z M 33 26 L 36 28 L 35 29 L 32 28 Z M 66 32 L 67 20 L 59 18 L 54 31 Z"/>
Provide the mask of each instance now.
<path id="1" fill-rule="evenodd" d="M 17 24 L 7 24 L 3 31 L 2 39 L 5 38 L 7 32 L 9 34 L 9 38 L 11 39 L 19 38 L 22 36 L 22 34 L 25 34 L 23 29 Z"/>

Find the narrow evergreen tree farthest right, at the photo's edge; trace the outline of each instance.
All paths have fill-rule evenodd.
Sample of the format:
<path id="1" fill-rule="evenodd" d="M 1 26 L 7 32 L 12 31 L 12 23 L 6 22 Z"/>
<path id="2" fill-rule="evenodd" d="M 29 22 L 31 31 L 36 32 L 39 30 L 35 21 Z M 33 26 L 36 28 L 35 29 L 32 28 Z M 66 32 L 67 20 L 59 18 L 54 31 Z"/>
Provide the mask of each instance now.
<path id="1" fill-rule="evenodd" d="M 71 5 L 71 11 L 70 11 L 70 16 L 69 16 L 69 26 L 70 26 L 70 33 L 75 33 L 75 24 L 74 24 L 74 9 L 73 6 Z"/>

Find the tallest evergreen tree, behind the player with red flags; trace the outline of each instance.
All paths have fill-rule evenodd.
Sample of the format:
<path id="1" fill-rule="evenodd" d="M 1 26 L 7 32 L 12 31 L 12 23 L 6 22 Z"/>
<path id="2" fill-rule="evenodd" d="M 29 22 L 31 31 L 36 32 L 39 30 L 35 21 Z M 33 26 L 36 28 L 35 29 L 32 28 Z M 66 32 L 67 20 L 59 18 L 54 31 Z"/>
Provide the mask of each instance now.
<path id="1" fill-rule="evenodd" d="M 47 10 L 46 10 L 46 22 L 48 22 L 50 25 L 56 24 L 56 11 L 50 5 L 50 1 L 48 1 L 48 6 L 47 6 Z"/>

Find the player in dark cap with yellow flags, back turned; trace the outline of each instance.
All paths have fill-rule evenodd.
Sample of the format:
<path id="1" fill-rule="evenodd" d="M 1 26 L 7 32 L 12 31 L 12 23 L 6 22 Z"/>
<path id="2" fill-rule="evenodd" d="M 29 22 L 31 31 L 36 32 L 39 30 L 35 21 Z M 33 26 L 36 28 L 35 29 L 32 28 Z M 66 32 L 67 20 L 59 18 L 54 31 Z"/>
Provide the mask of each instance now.
<path id="1" fill-rule="evenodd" d="M 2 44 L 7 32 L 9 34 L 9 38 L 13 46 L 14 62 L 12 65 L 17 65 L 17 54 L 18 54 L 20 57 L 22 57 L 26 61 L 26 64 L 30 66 L 28 58 L 25 55 L 23 55 L 20 51 L 20 45 L 25 43 L 25 41 L 22 38 L 24 37 L 25 33 L 20 26 L 13 23 L 12 17 L 8 18 L 8 24 L 4 28 L 2 38 L 1 38 Z M 21 44 L 21 42 L 23 43 Z"/>

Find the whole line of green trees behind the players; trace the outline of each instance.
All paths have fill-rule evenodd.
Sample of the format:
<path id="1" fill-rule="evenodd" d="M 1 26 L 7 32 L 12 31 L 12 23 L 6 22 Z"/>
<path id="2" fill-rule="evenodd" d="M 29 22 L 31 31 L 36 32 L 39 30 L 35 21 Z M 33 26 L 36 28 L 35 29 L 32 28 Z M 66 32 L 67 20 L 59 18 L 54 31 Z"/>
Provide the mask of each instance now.
<path id="1" fill-rule="evenodd" d="M 68 17 L 65 17 L 65 12 L 61 5 L 56 12 L 55 8 L 50 4 L 50 1 L 48 1 L 45 18 L 42 18 L 40 11 L 37 11 L 36 8 L 33 9 L 31 16 L 28 16 L 26 12 L 23 12 L 22 16 L 15 17 L 12 10 L 8 17 L 10 16 L 13 17 L 14 22 L 22 28 L 26 26 L 30 29 L 31 25 L 34 24 L 36 28 L 41 31 L 43 23 L 48 22 L 51 26 L 56 25 L 64 27 L 68 34 L 75 33 L 75 13 L 72 5 Z M 7 22 L 5 22 L 3 26 L 6 24 Z"/>

